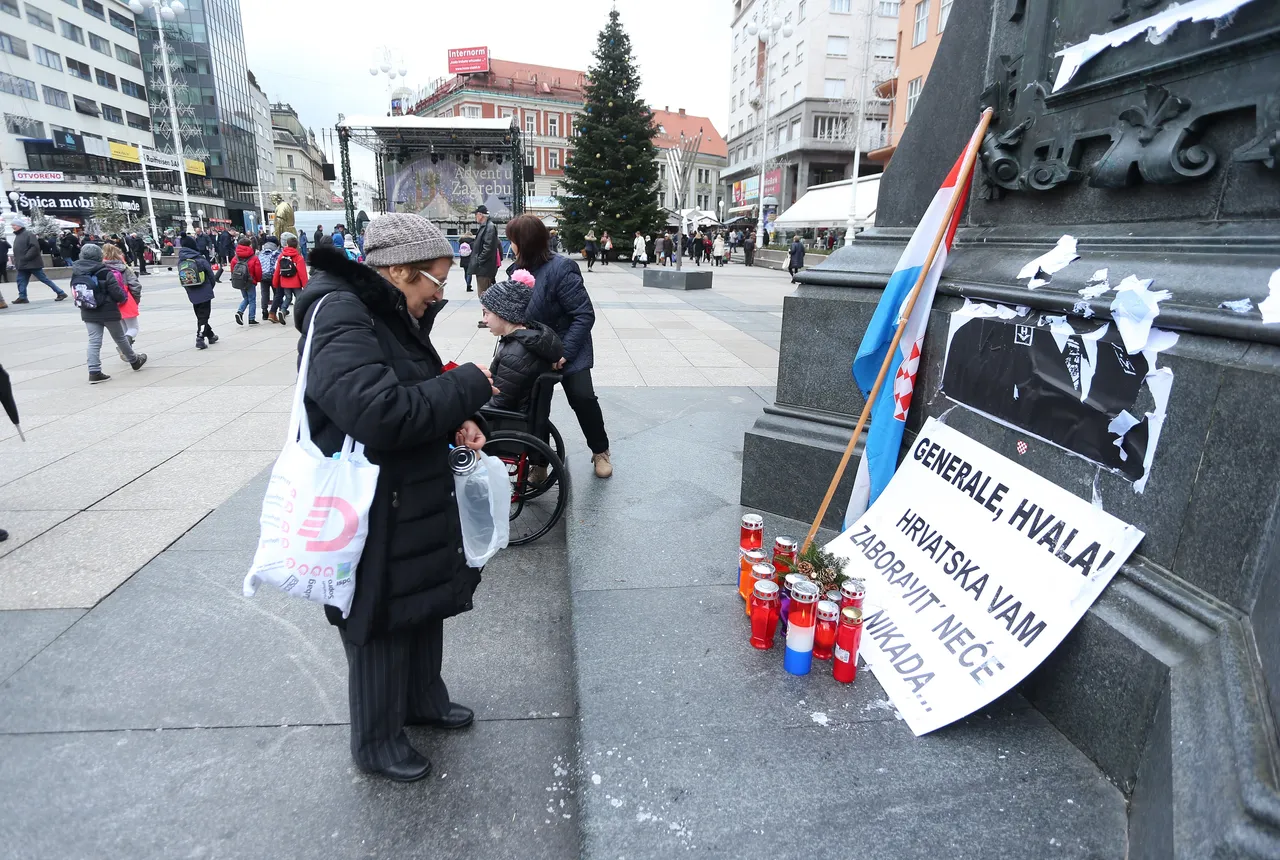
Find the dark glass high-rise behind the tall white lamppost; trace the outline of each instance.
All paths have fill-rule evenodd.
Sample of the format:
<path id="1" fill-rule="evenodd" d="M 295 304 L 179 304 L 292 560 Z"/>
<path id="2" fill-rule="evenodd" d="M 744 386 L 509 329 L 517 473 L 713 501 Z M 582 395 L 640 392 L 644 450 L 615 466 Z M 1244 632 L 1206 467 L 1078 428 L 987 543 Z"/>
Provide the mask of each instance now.
<path id="1" fill-rule="evenodd" d="M 209 163 L 209 177 L 224 200 L 228 220 L 242 229 L 244 215 L 256 211 L 259 202 L 253 99 L 239 0 L 191 0 L 183 5 L 183 12 L 164 24 L 182 105 L 183 150 L 188 157 Z M 155 12 L 138 15 L 137 35 L 151 90 L 156 146 L 173 152 Z"/>

